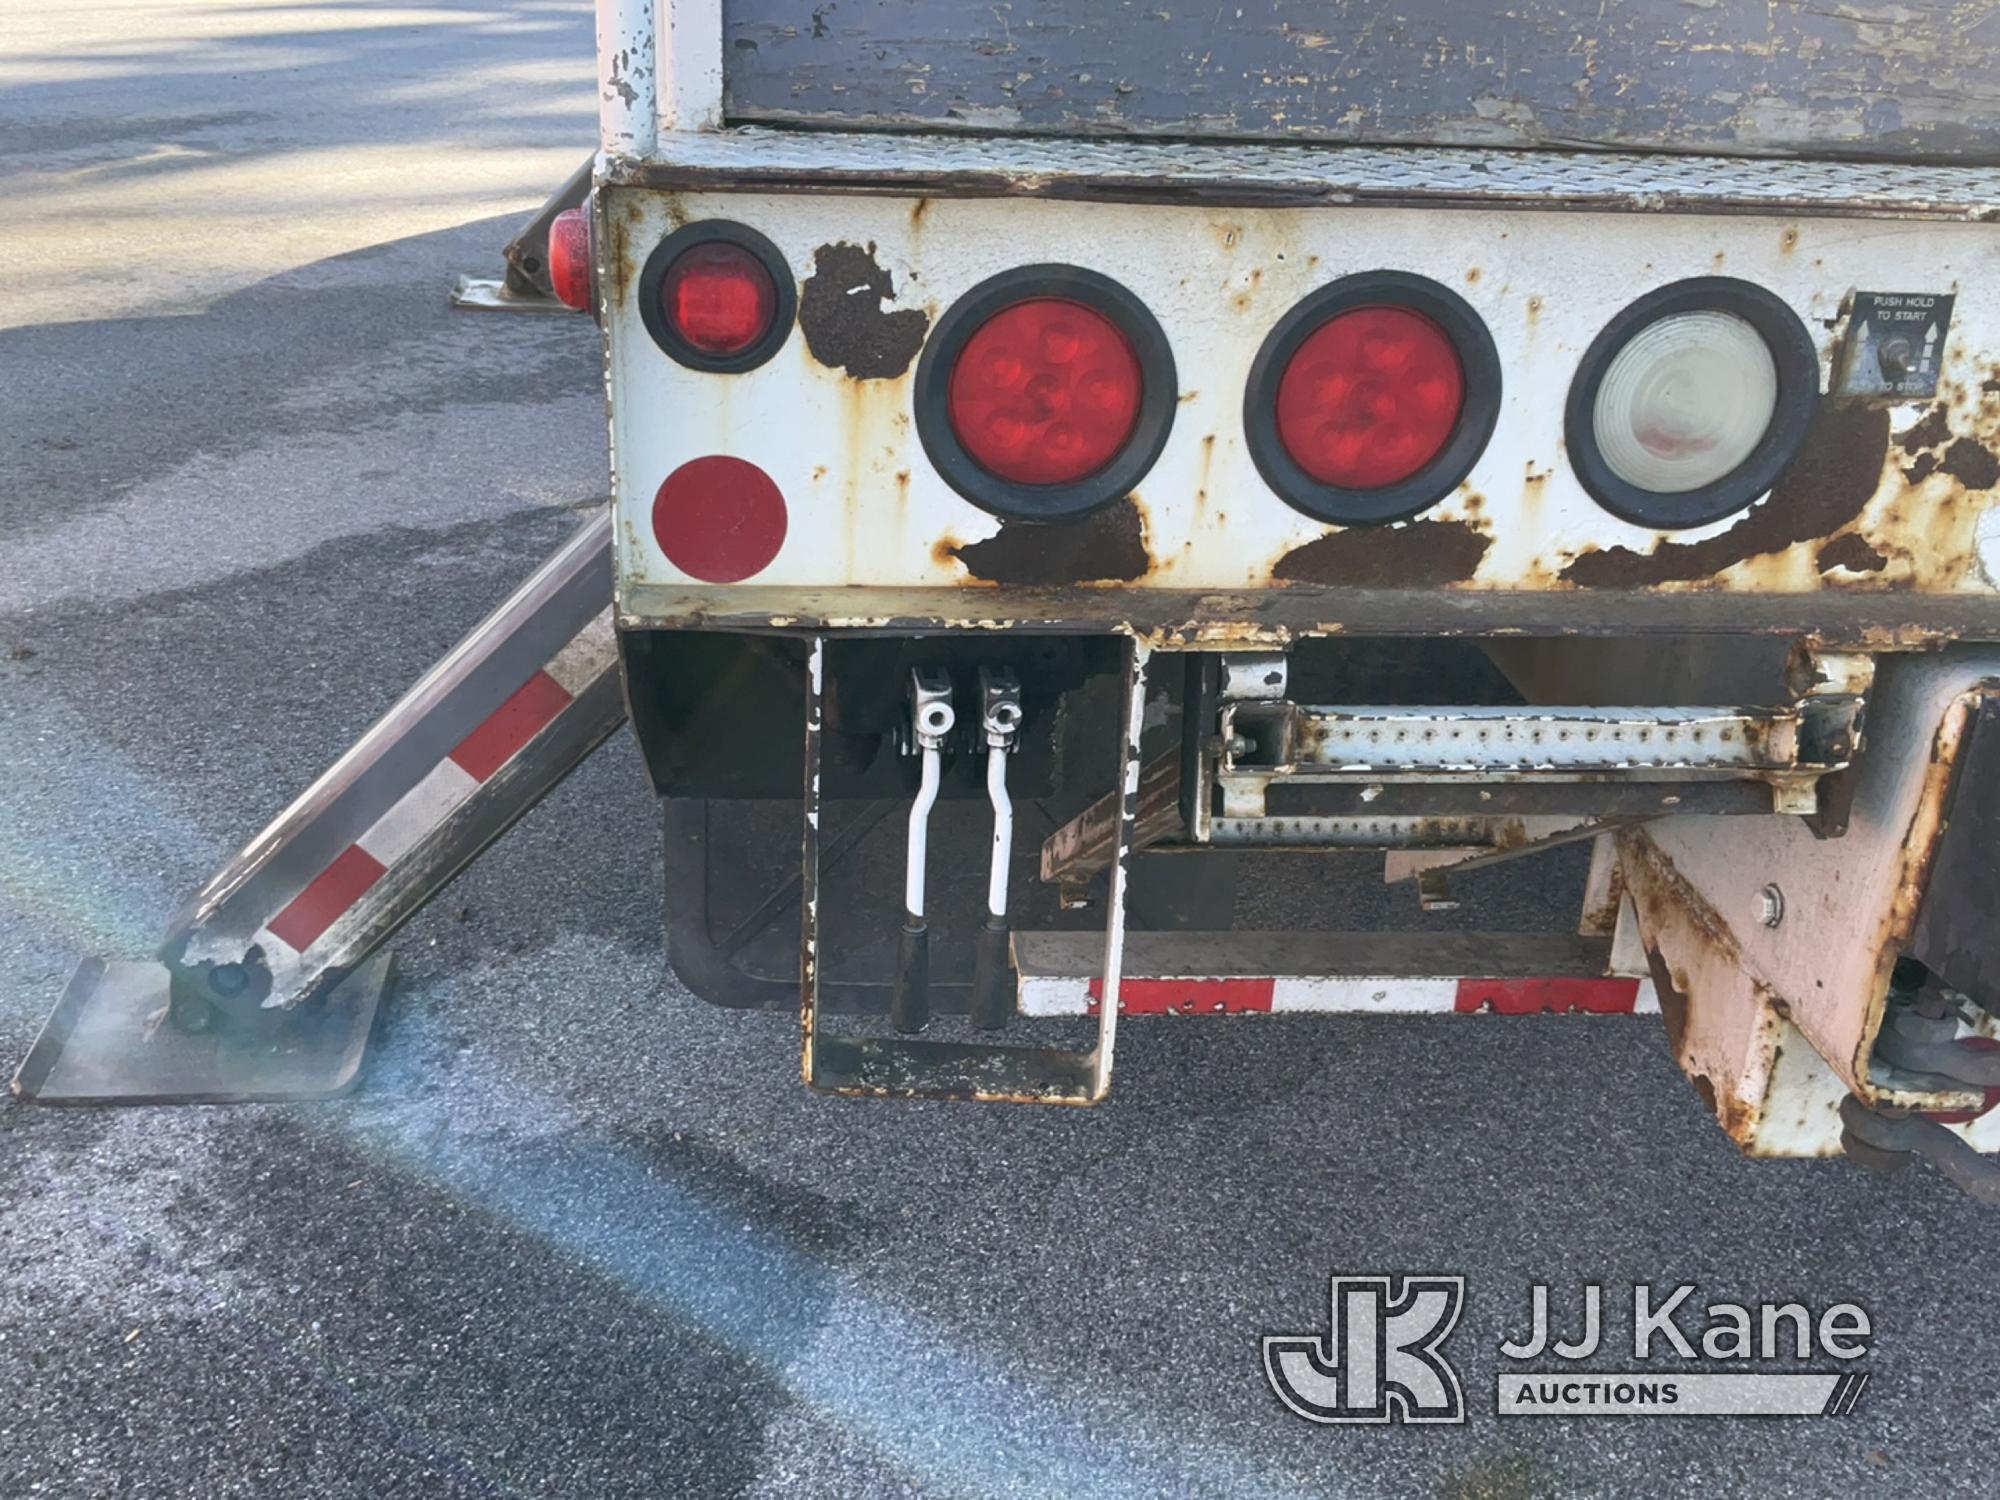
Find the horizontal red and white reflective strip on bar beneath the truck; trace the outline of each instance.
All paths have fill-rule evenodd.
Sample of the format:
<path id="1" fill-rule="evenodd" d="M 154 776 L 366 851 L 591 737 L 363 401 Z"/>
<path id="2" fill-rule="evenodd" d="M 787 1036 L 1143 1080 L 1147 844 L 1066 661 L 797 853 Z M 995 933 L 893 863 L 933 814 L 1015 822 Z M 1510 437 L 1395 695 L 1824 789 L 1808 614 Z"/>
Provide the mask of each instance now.
<path id="1" fill-rule="evenodd" d="M 1098 980 L 1028 974 L 1020 980 L 1024 1016 L 1094 1016 Z M 1122 1016 L 1242 1016 L 1350 1012 L 1378 1016 L 1658 1014 L 1652 980 L 1558 974 L 1546 978 L 1366 978 L 1306 974 L 1286 978 L 1126 978 L 1118 984 Z"/>

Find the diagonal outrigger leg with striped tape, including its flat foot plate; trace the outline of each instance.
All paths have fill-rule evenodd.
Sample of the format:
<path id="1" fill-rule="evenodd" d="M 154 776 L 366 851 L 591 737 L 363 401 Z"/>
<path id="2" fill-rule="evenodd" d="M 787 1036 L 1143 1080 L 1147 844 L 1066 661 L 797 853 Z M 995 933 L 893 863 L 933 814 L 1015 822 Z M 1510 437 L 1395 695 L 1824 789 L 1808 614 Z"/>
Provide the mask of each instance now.
<path id="1" fill-rule="evenodd" d="M 610 510 L 230 858 L 152 962 L 86 960 L 14 1078 L 44 1104 L 354 1082 L 382 944 L 624 722 Z"/>

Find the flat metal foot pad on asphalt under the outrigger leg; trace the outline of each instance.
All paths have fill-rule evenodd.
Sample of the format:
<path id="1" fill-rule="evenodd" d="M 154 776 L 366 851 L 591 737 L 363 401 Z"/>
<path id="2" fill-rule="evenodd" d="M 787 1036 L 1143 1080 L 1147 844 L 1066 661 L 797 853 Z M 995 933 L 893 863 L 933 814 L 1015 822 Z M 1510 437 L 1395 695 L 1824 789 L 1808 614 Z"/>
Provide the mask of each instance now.
<path id="1" fill-rule="evenodd" d="M 270 1032 L 184 1032 L 166 964 L 86 958 L 34 1040 L 14 1092 L 30 1104 L 284 1104 L 354 1088 L 388 988 L 376 952 Z"/>

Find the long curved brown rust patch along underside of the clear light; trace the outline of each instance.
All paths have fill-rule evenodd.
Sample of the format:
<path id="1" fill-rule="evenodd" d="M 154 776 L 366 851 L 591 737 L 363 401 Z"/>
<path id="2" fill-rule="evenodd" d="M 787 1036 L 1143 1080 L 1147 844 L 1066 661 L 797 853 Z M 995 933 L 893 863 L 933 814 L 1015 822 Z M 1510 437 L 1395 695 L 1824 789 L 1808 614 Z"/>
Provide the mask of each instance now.
<path id="1" fill-rule="evenodd" d="M 1820 402 L 1798 460 L 1734 526 L 1700 542 L 1662 542 L 1654 552 L 1614 546 L 1586 552 L 1562 576 L 1584 588 L 1672 584 L 1712 578 L 1748 558 L 1830 536 L 1862 514 L 1882 482 L 1888 412 L 1858 402 Z"/>

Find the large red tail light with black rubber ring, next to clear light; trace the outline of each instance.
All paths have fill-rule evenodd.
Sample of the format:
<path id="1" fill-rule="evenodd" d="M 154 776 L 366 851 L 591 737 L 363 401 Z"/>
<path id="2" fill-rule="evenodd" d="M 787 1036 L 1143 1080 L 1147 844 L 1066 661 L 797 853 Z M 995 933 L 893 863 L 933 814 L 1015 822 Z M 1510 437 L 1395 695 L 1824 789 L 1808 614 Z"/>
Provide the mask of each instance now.
<path id="1" fill-rule="evenodd" d="M 1244 386 L 1250 458 L 1314 520 L 1408 520 L 1472 472 L 1500 420 L 1500 352 L 1480 314 L 1426 276 L 1322 286 L 1264 338 Z"/>

